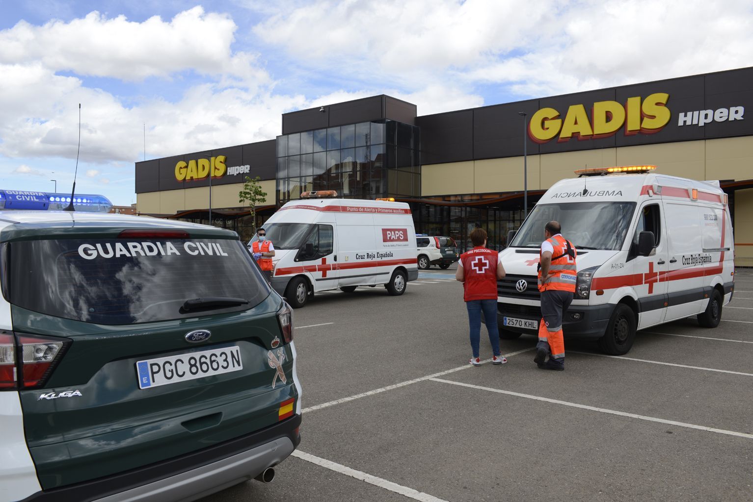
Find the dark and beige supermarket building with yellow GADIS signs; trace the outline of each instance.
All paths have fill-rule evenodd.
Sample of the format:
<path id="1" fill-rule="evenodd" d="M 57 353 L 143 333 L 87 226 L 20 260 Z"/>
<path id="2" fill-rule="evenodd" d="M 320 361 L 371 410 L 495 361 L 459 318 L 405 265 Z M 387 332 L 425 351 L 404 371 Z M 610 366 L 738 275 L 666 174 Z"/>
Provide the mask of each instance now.
<path id="1" fill-rule="evenodd" d="M 719 180 L 729 195 L 736 263 L 753 266 L 753 68 L 638 83 L 550 98 L 419 115 L 386 95 L 282 115 L 275 140 L 136 163 L 139 213 L 209 223 L 250 237 L 239 205 L 245 177 L 267 200 L 257 223 L 307 190 L 344 198 L 394 197 L 416 231 L 470 231 L 505 246 L 528 208 L 582 168 L 657 165 L 657 173 Z"/>

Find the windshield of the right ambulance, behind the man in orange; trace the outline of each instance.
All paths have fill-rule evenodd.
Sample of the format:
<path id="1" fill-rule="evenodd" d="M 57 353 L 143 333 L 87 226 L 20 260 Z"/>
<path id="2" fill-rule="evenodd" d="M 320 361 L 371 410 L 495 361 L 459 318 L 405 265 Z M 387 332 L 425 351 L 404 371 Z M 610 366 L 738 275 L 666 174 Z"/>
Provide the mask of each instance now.
<path id="1" fill-rule="evenodd" d="M 635 209 L 635 202 L 537 204 L 515 234 L 511 247 L 541 247 L 544 226 L 554 220 L 562 225 L 562 235 L 575 247 L 620 249 Z"/>

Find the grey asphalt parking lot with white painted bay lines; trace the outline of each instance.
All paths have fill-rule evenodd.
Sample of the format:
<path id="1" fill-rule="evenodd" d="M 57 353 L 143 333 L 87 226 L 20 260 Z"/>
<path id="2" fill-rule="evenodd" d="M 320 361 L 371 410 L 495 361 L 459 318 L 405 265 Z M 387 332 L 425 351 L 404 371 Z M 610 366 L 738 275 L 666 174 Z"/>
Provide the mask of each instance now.
<path id="1" fill-rule="evenodd" d="M 468 365 L 453 277 L 296 310 L 299 449 L 273 483 L 204 502 L 753 500 L 753 271 L 718 328 L 639 331 L 622 357 L 566 343 L 564 372 L 538 370 L 528 336 L 501 340 L 508 364 Z"/>

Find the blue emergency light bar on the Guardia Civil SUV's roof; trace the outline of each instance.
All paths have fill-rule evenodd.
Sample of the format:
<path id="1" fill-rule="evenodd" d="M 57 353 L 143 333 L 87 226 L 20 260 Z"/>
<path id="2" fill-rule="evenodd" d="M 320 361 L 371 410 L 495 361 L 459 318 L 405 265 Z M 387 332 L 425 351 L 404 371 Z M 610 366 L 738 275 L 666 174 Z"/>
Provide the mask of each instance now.
<path id="1" fill-rule="evenodd" d="M 71 202 L 71 194 L 0 190 L 0 209 L 8 210 L 64 210 Z M 108 213 L 112 203 L 104 195 L 76 194 L 73 208 L 87 213 Z"/>

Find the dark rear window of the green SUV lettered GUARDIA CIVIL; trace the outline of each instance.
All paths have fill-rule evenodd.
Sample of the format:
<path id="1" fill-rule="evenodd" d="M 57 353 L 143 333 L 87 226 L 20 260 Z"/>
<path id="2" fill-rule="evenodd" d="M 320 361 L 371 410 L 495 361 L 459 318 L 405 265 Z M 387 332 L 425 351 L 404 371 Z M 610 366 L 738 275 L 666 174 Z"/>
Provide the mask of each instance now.
<path id="1" fill-rule="evenodd" d="M 270 293 L 245 246 L 224 239 L 25 240 L 3 247 L 11 304 L 105 325 L 247 310 Z M 247 304 L 188 310 L 197 298 Z"/>

